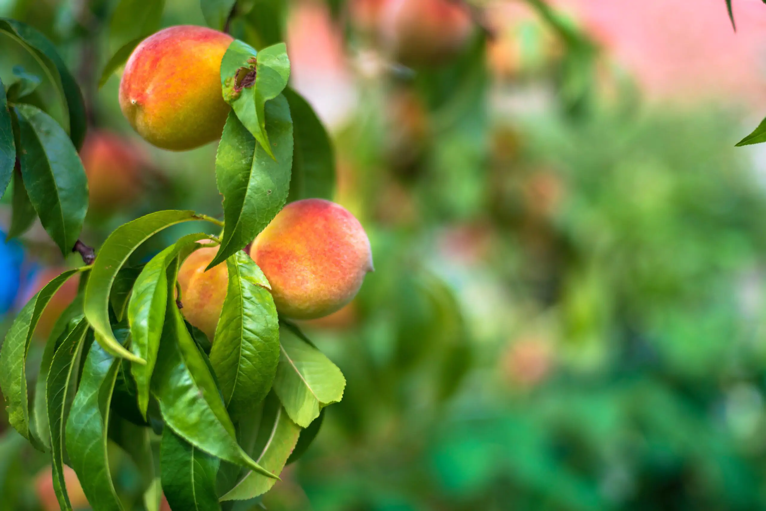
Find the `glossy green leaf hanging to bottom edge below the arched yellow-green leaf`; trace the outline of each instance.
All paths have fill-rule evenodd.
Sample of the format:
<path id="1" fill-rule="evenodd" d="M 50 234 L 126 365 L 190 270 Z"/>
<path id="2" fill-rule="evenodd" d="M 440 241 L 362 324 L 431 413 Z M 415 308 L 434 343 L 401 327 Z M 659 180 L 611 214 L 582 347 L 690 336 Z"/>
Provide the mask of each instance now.
<path id="1" fill-rule="evenodd" d="M 67 420 L 70 466 L 96 511 L 123 509 L 114 490 L 106 451 L 110 404 L 120 362 L 99 343 L 91 343 Z"/>

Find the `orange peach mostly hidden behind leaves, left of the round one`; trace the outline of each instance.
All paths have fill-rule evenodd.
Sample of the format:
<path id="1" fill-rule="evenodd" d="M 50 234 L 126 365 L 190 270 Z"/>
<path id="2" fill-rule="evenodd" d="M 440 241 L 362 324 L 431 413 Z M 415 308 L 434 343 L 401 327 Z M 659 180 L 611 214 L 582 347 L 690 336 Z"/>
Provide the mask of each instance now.
<path id="1" fill-rule="evenodd" d="M 218 252 L 217 246 L 192 252 L 178 269 L 182 313 L 186 321 L 205 332 L 211 342 L 224 308 L 229 272 L 222 263 L 205 272 Z"/>

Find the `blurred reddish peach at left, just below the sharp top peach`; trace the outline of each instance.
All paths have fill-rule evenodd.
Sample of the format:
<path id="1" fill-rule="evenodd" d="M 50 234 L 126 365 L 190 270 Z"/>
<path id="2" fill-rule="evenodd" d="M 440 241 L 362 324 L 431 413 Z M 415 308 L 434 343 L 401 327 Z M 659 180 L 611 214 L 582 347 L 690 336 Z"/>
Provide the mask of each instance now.
<path id="1" fill-rule="evenodd" d="M 110 132 L 91 132 L 80 151 L 90 188 L 88 211 L 113 213 L 133 203 L 141 192 L 146 158 L 141 148 Z"/>

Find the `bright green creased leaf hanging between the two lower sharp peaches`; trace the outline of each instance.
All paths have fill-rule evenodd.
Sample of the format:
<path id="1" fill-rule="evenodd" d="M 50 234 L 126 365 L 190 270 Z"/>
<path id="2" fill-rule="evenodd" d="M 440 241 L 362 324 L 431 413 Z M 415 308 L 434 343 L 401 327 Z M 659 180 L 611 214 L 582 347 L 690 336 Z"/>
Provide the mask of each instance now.
<path id="1" fill-rule="evenodd" d="M 226 260 L 229 282 L 210 352 L 224 402 L 232 415 L 261 402 L 280 359 L 277 308 L 264 272 L 250 255 Z"/>

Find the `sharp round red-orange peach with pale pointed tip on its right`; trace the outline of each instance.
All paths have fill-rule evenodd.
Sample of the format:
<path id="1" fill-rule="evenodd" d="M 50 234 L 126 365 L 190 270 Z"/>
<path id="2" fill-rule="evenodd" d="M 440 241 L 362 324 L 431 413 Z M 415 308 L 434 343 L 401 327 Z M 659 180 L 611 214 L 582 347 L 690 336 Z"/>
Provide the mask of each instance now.
<path id="1" fill-rule="evenodd" d="M 260 233 L 250 256 L 264 271 L 277 311 L 316 319 L 338 311 L 372 271 L 372 250 L 356 218 L 336 203 L 304 199 Z"/>

